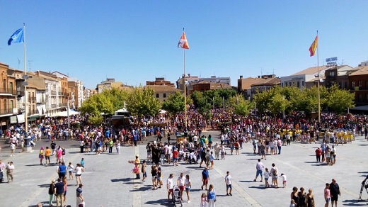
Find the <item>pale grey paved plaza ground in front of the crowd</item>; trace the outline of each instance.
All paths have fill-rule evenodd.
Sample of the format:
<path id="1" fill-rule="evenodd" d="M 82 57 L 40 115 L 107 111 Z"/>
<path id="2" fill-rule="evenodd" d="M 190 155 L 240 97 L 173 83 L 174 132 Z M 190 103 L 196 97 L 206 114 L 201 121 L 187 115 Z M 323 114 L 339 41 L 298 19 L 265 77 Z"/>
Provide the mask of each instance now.
<path id="1" fill-rule="evenodd" d="M 212 134 L 214 141 L 219 141 L 219 132 L 207 132 Z M 58 145 L 63 145 L 58 142 Z M 69 143 L 67 145 L 67 143 Z M 86 162 L 86 172 L 82 174 L 84 183 L 84 198 L 86 206 L 173 206 L 167 201 L 167 191 L 165 181 L 168 174 L 174 174 L 176 180 L 180 174 L 189 174 L 192 181 L 190 191 L 190 203 L 187 203 L 186 194 L 183 198 L 183 206 L 199 206 L 200 194 L 205 193 L 200 189 L 202 185 L 201 172 L 203 168 L 199 164 L 184 164 L 180 162 L 178 167 L 163 164 L 163 188 L 152 190 L 151 175 L 149 174 L 151 165 L 147 167 L 148 178 L 142 183 L 134 179 L 132 174 L 133 164 L 128 160 L 134 160 L 134 155 L 139 154 L 142 160 L 146 158 L 146 142 L 137 147 L 120 147 L 120 155 L 116 153 L 108 155 L 81 154 L 79 153 L 78 142 L 68 141 L 67 163 L 75 164 L 84 157 Z M 227 149 L 225 160 L 214 162 L 214 169 L 209 170 L 209 184 L 214 184 L 217 193 L 216 206 L 289 206 L 290 193 L 292 187 L 304 187 L 306 191 L 313 189 L 316 206 L 323 206 L 323 189 L 326 182 L 330 183 L 335 178 L 340 185 L 341 196 L 340 206 L 367 206 L 368 194 L 363 191 L 363 202 L 357 202 L 360 194 L 362 180 L 368 174 L 367 147 L 368 141 L 362 137 L 352 142 L 352 144 L 338 145 L 336 164 L 326 166 L 316 162 L 315 150 L 317 144 L 300 144 L 292 142 L 290 146 L 283 146 L 281 155 L 267 156 L 267 160 L 262 160 L 265 167 L 271 168 L 275 163 L 279 169 L 279 174 L 287 175 L 286 188 L 265 189 L 264 183 L 253 181 L 255 178 L 255 164 L 259 155 L 253 154 L 251 143 L 244 143 L 240 155 L 230 155 Z M 14 181 L 10 184 L 0 184 L 1 206 L 35 206 L 43 203 L 48 206 L 48 187 L 52 179 L 57 178 L 57 166 L 41 166 L 38 159 L 40 146 L 34 147 L 33 152 L 20 153 L 17 149 L 15 157 L 9 157 L 10 152 L 3 149 L 0 152 L 0 159 L 4 163 L 13 161 Z M 113 150 L 115 152 L 115 148 Z M 55 158 L 52 157 L 52 162 Z M 226 171 L 230 171 L 233 177 L 233 196 L 226 196 L 226 186 L 224 176 Z M 142 177 L 142 174 L 141 174 Z M 6 175 L 4 175 L 6 181 Z M 68 180 L 67 202 L 71 206 L 76 206 L 76 182 Z M 279 179 L 279 186 L 282 186 L 282 179 Z M 56 203 L 53 203 L 56 206 Z"/>

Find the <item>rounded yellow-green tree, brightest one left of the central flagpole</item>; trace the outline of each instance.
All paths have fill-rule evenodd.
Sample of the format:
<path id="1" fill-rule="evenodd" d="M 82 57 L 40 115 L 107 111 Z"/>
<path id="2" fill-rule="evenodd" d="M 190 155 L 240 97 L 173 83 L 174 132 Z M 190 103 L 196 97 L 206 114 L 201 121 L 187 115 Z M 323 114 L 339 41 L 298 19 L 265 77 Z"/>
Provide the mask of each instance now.
<path id="1" fill-rule="evenodd" d="M 127 111 L 134 116 L 155 116 L 160 108 L 160 101 L 154 97 L 154 90 L 150 87 L 136 87 L 127 99 Z"/>

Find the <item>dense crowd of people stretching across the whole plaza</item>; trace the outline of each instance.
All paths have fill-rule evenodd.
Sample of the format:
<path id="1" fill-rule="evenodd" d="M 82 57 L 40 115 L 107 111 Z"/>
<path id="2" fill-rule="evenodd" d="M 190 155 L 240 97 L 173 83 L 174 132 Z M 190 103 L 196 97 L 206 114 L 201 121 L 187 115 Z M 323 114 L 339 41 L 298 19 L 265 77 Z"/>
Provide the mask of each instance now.
<path id="1" fill-rule="evenodd" d="M 8 140 L 11 148 L 11 156 L 14 156 L 16 147 L 21 147 L 25 136 L 30 138 L 31 143 L 35 146 L 41 138 L 51 141 L 51 145 L 40 147 L 39 159 L 40 164 L 45 165 L 53 162 L 50 157 L 55 156 L 60 181 L 52 181 L 54 185 L 52 193 L 57 194 L 57 204 L 64 200 L 60 193 L 61 189 L 56 186 L 67 186 L 67 175 L 69 180 L 74 179 L 73 172 L 75 171 L 77 189 L 77 197 L 81 196 L 81 172 L 84 169 L 84 161 L 76 164 L 74 167 L 71 163 L 66 166 L 65 149 L 55 144 L 55 140 L 79 140 L 81 153 L 100 153 L 107 152 L 110 154 L 120 154 L 120 146 L 137 146 L 139 142 L 147 140 L 147 136 L 156 136 L 155 142 L 148 142 L 146 145 L 147 160 L 140 162 L 139 155 L 134 160 L 134 173 L 136 179 L 142 180 L 147 178 L 147 168 L 151 169 L 152 189 L 156 190 L 163 186 L 163 174 L 160 164 L 169 164 L 178 166 L 178 162 L 185 164 L 198 164 L 205 169 L 202 172 L 202 188 L 205 187 L 207 194 L 201 196 L 203 206 L 209 204 L 214 206 L 216 196 L 213 184 L 209 184 L 208 171 L 214 168 L 215 160 L 224 160 L 228 153 L 230 155 L 239 155 L 239 150 L 243 149 L 243 144 L 250 142 L 253 145 L 253 153 L 260 155 L 261 159 L 266 160 L 268 155 L 280 155 L 282 147 L 292 145 L 294 142 L 304 144 L 321 142 L 321 147 L 316 150 L 316 162 L 326 162 L 328 165 L 335 164 L 336 147 L 335 145 L 343 145 L 355 140 L 355 135 L 365 135 L 367 138 L 367 117 L 365 116 L 337 116 L 326 113 L 321 116 L 321 123 L 312 118 L 306 118 L 301 113 L 294 113 L 287 118 L 278 118 L 272 116 L 257 116 L 251 115 L 246 117 L 236 116 L 221 109 L 211 111 L 211 117 L 202 116 L 200 113 L 191 108 L 188 111 L 188 125 L 184 125 L 184 116 L 179 113 L 171 118 L 160 116 L 160 118 L 141 118 L 135 120 L 132 118 L 131 125 L 127 126 L 91 126 L 86 123 L 83 117 L 74 117 L 75 123 L 70 128 L 67 127 L 65 120 L 55 118 L 47 118 L 40 123 L 30 125 L 28 132 L 25 133 L 23 126 L 12 126 L 7 130 L 0 131 L 0 136 Z M 164 124 L 163 124 L 164 123 Z M 202 130 L 220 130 L 220 142 L 214 142 L 211 135 L 202 135 Z M 184 139 L 177 142 L 173 137 L 183 136 Z M 178 139 L 179 140 L 179 139 Z M 113 152 L 115 147 L 115 152 Z M 321 159 L 322 157 L 322 159 Z M 260 160 L 261 160 L 260 159 Z M 282 178 L 282 186 L 286 187 L 286 174 L 280 174 L 272 164 L 270 170 L 263 166 L 258 160 L 256 166 L 256 176 L 254 181 L 260 176 L 261 182 L 263 177 L 265 187 L 278 188 L 278 178 Z M 147 167 L 152 163 L 151 167 Z M 11 163 L 12 164 L 12 163 Z M 0 163 L 1 167 L 1 163 Z M 8 167 L 6 168 L 8 169 Z M 13 168 L 14 169 L 14 168 Z M 13 169 L 11 172 L 13 172 Z M 8 174 L 8 173 L 7 173 Z M 166 188 L 168 189 L 168 199 L 173 200 L 173 175 L 170 174 L 166 180 Z M 185 177 L 180 174 L 177 186 L 180 190 L 180 199 L 183 200 L 183 191 L 186 192 L 188 202 L 190 202 L 190 188 L 192 186 L 189 179 L 189 174 Z M 270 183 L 268 179 L 272 180 Z M 13 179 L 9 173 L 8 181 Z M 171 179 L 171 180 L 169 180 Z M 231 194 L 231 176 L 229 172 L 225 178 L 226 196 Z M 62 183 L 62 184 L 59 184 Z M 209 188 L 207 185 L 209 184 Z M 58 190 L 54 192 L 54 190 Z M 64 189 L 66 192 L 67 189 Z M 212 192 L 213 191 L 213 192 Z M 304 191 L 304 189 L 303 189 Z M 49 192 L 50 193 L 50 192 Z M 298 193 L 299 194 L 299 193 Z M 51 194 L 50 194 L 51 195 Z M 311 189 L 309 190 L 308 198 L 313 198 Z M 50 196 L 51 198 L 51 196 Z M 292 198 L 294 199 L 294 198 Z M 79 201 L 84 200 L 83 196 Z M 300 199 L 294 199 L 294 203 L 299 203 Z M 293 202 L 293 201 L 291 201 Z M 207 204 L 206 204 L 207 203 Z M 51 203 L 50 203 L 51 205 Z M 298 204 L 299 205 L 299 204 Z"/>

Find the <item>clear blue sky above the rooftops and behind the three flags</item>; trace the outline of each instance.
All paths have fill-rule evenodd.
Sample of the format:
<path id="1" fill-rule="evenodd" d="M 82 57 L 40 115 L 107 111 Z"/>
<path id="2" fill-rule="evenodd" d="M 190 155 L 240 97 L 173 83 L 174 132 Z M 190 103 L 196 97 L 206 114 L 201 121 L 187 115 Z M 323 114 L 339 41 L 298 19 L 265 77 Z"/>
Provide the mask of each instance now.
<path id="1" fill-rule="evenodd" d="M 368 1 L 1 1 L 0 62 L 23 70 L 23 44 L 7 45 L 25 23 L 31 71 L 59 71 L 95 88 L 106 77 L 133 86 L 183 74 L 177 47 L 185 27 L 186 72 L 200 77 L 293 74 L 319 62 L 368 60 Z M 30 62 L 28 62 L 28 60 Z"/>

